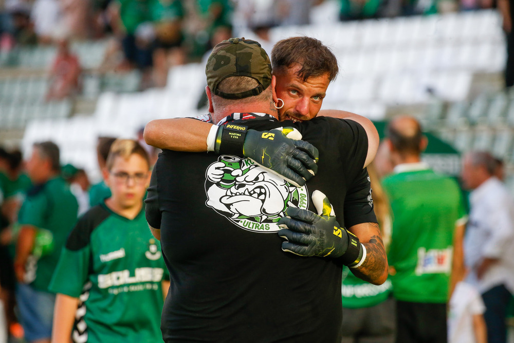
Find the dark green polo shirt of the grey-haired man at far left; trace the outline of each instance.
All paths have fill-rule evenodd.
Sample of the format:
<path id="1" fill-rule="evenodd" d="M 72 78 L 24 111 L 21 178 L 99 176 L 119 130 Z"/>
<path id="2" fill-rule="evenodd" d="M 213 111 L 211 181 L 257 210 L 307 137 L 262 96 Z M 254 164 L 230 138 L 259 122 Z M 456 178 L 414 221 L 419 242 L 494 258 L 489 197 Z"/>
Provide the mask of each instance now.
<path id="1" fill-rule="evenodd" d="M 77 222 L 78 208 L 77 198 L 61 177 L 28 191 L 18 222 L 37 228 L 34 250 L 25 267 L 25 280 L 34 288 L 48 291 L 66 237 Z"/>

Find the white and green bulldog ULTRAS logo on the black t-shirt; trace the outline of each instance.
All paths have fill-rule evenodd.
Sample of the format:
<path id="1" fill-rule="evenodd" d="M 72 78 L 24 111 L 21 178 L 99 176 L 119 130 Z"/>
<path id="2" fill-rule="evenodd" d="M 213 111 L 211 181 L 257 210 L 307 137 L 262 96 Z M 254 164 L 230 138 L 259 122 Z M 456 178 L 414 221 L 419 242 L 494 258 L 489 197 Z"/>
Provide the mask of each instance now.
<path id="1" fill-rule="evenodd" d="M 307 187 L 296 187 L 249 158 L 221 155 L 207 168 L 206 205 L 250 231 L 277 232 L 286 207 L 308 207 Z"/>

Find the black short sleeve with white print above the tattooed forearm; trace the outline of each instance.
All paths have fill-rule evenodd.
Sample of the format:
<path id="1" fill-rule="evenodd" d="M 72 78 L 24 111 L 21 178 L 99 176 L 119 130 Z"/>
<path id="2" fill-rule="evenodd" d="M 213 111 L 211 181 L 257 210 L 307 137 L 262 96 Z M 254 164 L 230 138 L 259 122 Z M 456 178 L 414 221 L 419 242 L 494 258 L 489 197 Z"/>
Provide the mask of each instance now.
<path id="1" fill-rule="evenodd" d="M 347 228 L 362 223 L 377 223 L 371 192 L 368 169 L 364 168 L 351 183 L 344 199 L 344 225 Z"/>

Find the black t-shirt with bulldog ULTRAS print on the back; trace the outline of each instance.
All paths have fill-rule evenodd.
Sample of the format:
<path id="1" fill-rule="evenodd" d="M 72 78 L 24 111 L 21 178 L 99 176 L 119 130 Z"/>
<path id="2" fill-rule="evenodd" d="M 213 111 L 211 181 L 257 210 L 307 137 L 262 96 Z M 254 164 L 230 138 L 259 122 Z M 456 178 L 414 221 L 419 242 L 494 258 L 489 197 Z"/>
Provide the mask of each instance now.
<path id="1" fill-rule="evenodd" d="M 341 225 L 376 222 L 362 169 L 368 150 L 365 131 L 354 121 L 326 117 L 240 123 L 256 130 L 296 127 L 320 151 L 318 174 L 296 188 L 246 158 L 169 150 L 160 154 L 146 219 L 161 229 L 170 270 L 163 338 L 340 341 L 342 266 L 282 251 L 276 222 L 287 206 L 316 211 L 310 198 L 316 189 L 328 196 Z M 350 189 L 353 204 L 346 206 Z"/>

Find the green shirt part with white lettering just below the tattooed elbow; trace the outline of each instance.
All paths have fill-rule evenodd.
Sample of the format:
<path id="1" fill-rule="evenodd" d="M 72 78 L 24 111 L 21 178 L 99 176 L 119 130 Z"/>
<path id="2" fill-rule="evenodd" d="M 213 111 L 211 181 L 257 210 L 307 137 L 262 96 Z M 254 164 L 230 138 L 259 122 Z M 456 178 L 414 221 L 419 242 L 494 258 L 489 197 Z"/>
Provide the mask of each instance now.
<path id="1" fill-rule="evenodd" d="M 359 279 L 352 274 L 350 268 L 343 267 L 341 283 L 341 299 L 343 308 L 361 309 L 378 305 L 386 301 L 391 294 L 391 280 L 381 285 L 374 285 Z"/>

